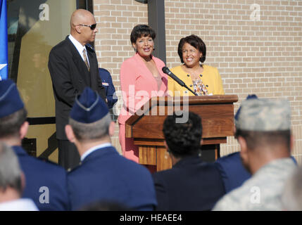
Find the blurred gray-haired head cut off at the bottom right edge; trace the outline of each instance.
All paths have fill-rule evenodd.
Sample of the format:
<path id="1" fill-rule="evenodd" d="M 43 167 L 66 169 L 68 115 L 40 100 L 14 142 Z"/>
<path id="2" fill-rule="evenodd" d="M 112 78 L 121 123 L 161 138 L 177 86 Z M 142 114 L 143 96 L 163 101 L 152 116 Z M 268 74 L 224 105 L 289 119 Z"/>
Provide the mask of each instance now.
<path id="1" fill-rule="evenodd" d="M 282 193 L 283 210 L 302 210 L 302 167 L 298 167 L 287 180 Z"/>

